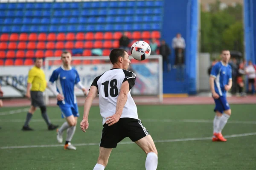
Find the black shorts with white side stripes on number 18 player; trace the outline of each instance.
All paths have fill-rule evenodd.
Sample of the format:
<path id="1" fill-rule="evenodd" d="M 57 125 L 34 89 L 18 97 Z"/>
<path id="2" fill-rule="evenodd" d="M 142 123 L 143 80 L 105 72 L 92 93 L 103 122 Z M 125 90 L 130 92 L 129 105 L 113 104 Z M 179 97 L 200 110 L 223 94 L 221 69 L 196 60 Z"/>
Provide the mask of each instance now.
<path id="1" fill-rule="evenodd" d="M 120 118 L 114 125 L 103 125 L 100 146 L 105 148 L 115 148 L 118 142 L 129 137 L 132 142 L 136 142 L 149 135 L 148 130 L 143 126 L 140 119 Z"/>

